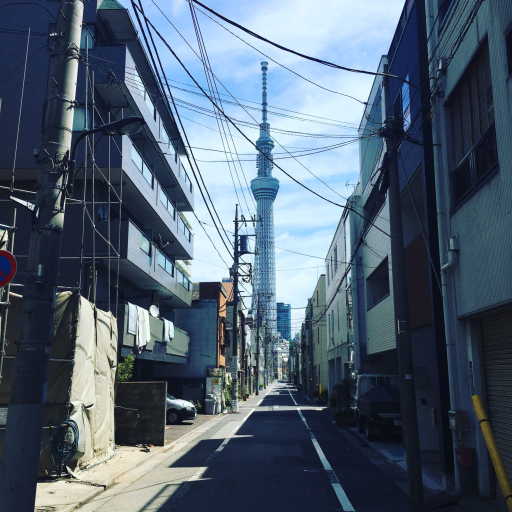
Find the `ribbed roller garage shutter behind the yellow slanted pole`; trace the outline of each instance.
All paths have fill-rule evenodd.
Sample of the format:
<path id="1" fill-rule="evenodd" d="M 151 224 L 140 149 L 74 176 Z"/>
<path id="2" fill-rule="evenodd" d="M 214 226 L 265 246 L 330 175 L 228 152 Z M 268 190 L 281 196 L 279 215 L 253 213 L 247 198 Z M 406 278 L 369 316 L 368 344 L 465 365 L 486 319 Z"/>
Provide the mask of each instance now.
<path id="1" fill-rule="evenodd" d="M 482 319 L 481 329 L 489 420 L 512 479 L 512 310 Z"/>

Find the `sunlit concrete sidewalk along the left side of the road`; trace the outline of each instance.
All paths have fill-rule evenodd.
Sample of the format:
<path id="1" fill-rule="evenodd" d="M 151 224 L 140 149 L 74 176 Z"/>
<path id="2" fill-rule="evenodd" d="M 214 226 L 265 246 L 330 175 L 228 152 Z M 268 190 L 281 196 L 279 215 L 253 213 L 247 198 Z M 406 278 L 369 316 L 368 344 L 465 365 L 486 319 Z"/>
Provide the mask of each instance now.
<path id="1" fill-rule="evenodd" d="M 116 479 L 150 461 L 155 455 L 167 452 L 193 432 L 207 423 L 220 420 L 223 416 L 227 415 L 198 414 L 194 421 L 166 426 L 164 446 L 153 446 L 148 449 L 142 445 L 116 446 L 116 452 L 111 459 L 81 472 L 78 479 L 60 478 L 38 481 L 34 511 L 70 512 L 74 510 L 103 492 Z"/>

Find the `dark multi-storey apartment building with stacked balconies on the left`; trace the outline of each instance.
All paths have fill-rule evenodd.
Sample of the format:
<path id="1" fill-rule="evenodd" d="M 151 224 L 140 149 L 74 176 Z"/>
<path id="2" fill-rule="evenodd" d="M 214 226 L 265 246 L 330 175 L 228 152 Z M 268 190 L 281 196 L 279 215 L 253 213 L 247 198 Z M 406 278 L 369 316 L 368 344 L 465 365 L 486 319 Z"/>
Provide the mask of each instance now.
<path id="1" fill-rule="evenodd" d="M 10 222 L 16 205 L 14 253 L 24 268 L 32 213 L 10 196 L 29 202 L 34 197 L 34 148 L 41 142 L 51 55 L 59 47 L 54 33 L 58 3 L 34 6 L 37 15 L 30 28 L 39 35 L 30 38 L 30 6 L 2 4 L 7 32 L 0 57 L 4 70 L 12 73 L 0 84 L 0 167 L 4 183 L 15 189 L 13 194 L 3 191 L 2 223 Z M 40 34 L 50 34 L 42 48 Z M 27 41 L 28 54 L 37 56 L 27 59 L 24 72 L 19 63 L 25 62 Z M 142 117 L 145 125 L 135 135 L 90 135 L 77 146 L 56 285 L 79 290 L 93 304 L 112 311 L 118 321 L 118 354 L 134 355 L 137 377 L 151 378 L 155 364 L 187 362 L 189 334 L 175 325 L 175 350 L 166 343 L 163 327 L 163 318 L 174 322 L 174 308 L 191 301 L 185 268 L 194 238 L 186 212 L 194 209 L 194 189 L 181 160 L 186 151 L 159 76 L 119 2 L 84 5 L 80 53 L 76 101 L 70 104 L 73 140 L 93 126 L 128 116 Z M 19 275 L 13 283 L 22 294 L 23 280 Z M 147 336 L 141 339 L 130 325 L 129 304 L 139 306 L 148 318 Z M 155 316 L 147 315 L 152 305 Z"/>

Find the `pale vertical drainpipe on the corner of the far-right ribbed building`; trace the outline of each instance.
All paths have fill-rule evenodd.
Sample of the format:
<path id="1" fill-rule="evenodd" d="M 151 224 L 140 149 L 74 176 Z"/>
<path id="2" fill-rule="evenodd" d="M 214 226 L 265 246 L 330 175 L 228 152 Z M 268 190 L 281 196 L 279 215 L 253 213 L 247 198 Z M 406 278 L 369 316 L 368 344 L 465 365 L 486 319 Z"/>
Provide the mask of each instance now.
<path id="1" fill-rule="evenodd" d="M 425 2 L 425 13 L 426 13 L 426 33 L 429 35 L 427 41 L 429 60 L 433 57 L 433 30 L 434 30 L 434 16 L 432 13 L 432 5 L 430 0 Z M 436 70 L 438 73 L 443 71 Z M 430 75 L 429 70 L 429 75 Z M 433 73 L 432 73 L 433 74 Z M 439 83 L 435 84 L 434 76 L 430 77 L 432 93 L 432 108 L 439 106 Z M 435 122 L 435 125 L 434 125 Z M 436 188 L 436 204 L 437 204 L 437 231 L 439 240 L 439 261 L 445 261 L 444 248 L 446 246 L 446 205 L 444 202 L 443 187 L 441 182 L 441 168 L 442 168 L 442 154 L 440 151 L 441 144 L 439 142 L 439 135 L 437 130 L 437 119 L 433 118 L 433 130 L 432 130 L 432 143 L 434 152 L 434 179 Z M 446 340 L 446 360 L 448 365 L 448 383 L 450 390 L 450 405 L 452 410 L 457 410 L 457 383 L 455 377 L 455 346 L 452 337 L 452 301 L 450 297 L 450 284 L 448 281 L 447 271 L 451 269 L 455 264 L 455 239 L 450 239 L 448 258 L 445 263 L 441 263 L 441 294 L 443 297 L 443 315 L 444 315 L 444 331 Z M 459 446 L 458 434 L 455 430 L 452 431 L 452 443 L 453 443 L 453 457 L 455 461 L 455 450 Z M 460 492 L 460 471 L 457 463 L 454 463 L 454 477 L 455 487 Z"/>

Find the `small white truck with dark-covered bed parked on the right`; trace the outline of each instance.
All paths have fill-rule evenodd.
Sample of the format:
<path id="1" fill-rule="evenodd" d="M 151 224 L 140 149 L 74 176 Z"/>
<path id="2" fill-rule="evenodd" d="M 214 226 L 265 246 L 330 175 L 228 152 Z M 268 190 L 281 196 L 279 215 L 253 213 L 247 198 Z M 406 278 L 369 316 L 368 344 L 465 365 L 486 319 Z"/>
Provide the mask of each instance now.
<path id="1" fill-rule="evenodd" d="M 375 437 L 401 435 L 402 416 L 398 375 L 358 375 L 353 409 L 360 433 Z"/>

